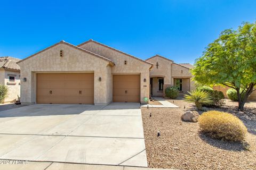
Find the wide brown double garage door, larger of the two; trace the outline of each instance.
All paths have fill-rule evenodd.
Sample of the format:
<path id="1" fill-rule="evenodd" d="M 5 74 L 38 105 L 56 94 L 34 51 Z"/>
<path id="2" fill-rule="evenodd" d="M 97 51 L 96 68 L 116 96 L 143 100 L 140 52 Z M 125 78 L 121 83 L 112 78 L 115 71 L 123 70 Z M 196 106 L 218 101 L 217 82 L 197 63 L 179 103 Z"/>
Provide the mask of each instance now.
<path id="1" fill-rule="evenodd" d="M 93 73 L 37 74 L 37 103 L 93 104 Z"/>

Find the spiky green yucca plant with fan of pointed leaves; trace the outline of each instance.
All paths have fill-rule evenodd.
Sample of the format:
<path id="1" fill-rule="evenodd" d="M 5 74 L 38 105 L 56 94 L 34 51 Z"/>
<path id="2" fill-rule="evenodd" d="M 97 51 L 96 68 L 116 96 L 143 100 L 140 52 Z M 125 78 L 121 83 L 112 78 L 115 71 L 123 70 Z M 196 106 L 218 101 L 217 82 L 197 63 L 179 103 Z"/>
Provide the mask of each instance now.
<path id="1" fill-rule="evenodd" d="M 189 95 L 185 95 L 185 101 L 188 101 L 190 103 L 195 103 L 196 108 L 199 111 L 202 111 L 203 104 L 210 105 L 213 103 L 211 94 L 204 90 L 191 90 L 191 91 L 188 91 L 188 94 Z"/>

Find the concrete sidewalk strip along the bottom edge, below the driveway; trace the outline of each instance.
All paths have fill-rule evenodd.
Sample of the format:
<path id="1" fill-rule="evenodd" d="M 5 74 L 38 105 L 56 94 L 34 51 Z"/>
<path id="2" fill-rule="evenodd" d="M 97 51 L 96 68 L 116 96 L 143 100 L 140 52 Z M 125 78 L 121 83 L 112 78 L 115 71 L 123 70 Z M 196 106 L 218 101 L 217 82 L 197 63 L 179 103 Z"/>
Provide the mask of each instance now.
<path id="1" fill-rule="evenodd" d="M 0 160 L 0 169 L 4 170 L 160 170 L 156 168 L 142 168 L 129 166 L 108 166 L 108 165 L 89 165 L 89 164 L 67 164 L 53 162 L 13 162 L 13 160 Z M 20 164 L 14 164 L 20 163 Z M 21 164 L 22 163 L 22 164 Z M 164 169 L 163 169 L 164 170 Z M 165 169 L 168 170 L 168 169 Z M 169 169 L 171 170 L 171 169 Z M 174 170 L 174 169 L 172 169 Z"/>

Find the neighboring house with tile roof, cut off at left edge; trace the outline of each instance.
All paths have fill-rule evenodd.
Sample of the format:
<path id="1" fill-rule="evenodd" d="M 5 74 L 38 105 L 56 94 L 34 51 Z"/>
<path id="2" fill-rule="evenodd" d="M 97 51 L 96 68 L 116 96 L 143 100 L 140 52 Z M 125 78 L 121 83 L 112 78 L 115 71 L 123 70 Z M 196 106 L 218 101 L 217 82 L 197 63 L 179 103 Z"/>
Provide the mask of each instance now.
<path id="1" fill-rule="evenodd" d="M 15 101 L 20 95 L 20 66 L 18 58 L 0 57 L 0 84 L 7 86 L 5 102 Z"/>

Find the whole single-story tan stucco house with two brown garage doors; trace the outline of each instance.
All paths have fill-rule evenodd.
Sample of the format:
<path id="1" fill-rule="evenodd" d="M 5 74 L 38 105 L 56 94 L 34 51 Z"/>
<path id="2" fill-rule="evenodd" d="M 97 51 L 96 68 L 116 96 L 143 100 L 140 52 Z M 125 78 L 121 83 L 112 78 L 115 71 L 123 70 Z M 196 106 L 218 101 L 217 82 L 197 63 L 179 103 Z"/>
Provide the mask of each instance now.
<path id="1" fill-rule="evenodd" d="M 150 93 L 164 96 L 168 86 L 176 84 L 181 94 L 191 88 L 184 65 L 159 55 L 141 60 L 94 40 L 60 41 L 18 64 L 22 104 L 145 103 Z"/>

